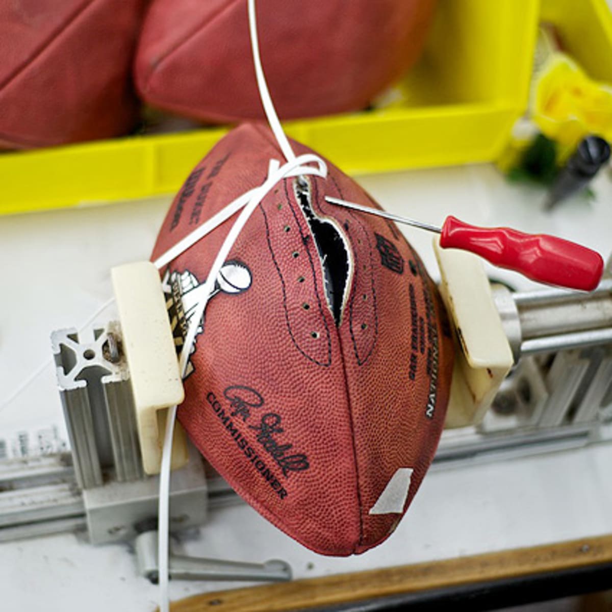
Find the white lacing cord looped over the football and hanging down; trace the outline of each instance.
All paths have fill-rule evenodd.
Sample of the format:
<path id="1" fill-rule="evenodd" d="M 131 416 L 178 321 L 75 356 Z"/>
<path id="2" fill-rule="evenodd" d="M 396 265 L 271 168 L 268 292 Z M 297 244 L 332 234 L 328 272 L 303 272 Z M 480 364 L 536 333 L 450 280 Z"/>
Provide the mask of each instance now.
<path id="1" fill-rule="evenodd" d="M 226 236 L 225 241 L 223 241 L 223 244 L 215 257 L 215 261 L 206 277 L 206 282 L 204 282 L 204 289 L 202 291 L 203 295 L 206 297 L 204 300 L 202 300 L 202 302 L 200 302 L 200 304 L 197 305 L 196 312 L 190 319 L 181 356 L 179 358 L 179 369 L 181 370 L 182 376 L 185 376 L 185 371 L 187 370 L 188 358 L 195 342 L 198 327 L 201 324 L 201 326 L 204 328 L 204 311 L 206 310 L 208 299 L 214 290 L 218 274 L 225 263 L 227 256 L 230 254 L 231 248 L 234 246 L 237 237 L 240 235 L 241 231 L 246 225 L 248 218 L 253 214 L 253 211 L 255 211 L 261 201 L 263 201 L 266 195 L 271 192 L 275 185 L 283 179 L 294 176 L 303 176 L 304 174 L 310 174 L 323 178 L 327 176 L 327 165 L 318 155 L 304 154 L 296 157 L 293 149 L 291 149 L 291 145 L 289 144 L 285 132 L 283 132 L 280 121 L 278 120 L 278 116 L 274 110 L 274 104 L 272 103 L 272 99 L 267 88 L 266 79 L 264 78 L 263 69 L 261 67 L 261 59 L 259 58 L 255 0 L 248 0 L 248 24 L 259 95 L 264 106 L 264 111 L 266 112 L 268 123 L 271 127 L 272 133 L 274 133 L 278 146 L 285 156 L 286 163 L 281 166 L 277 160 L 270 160 L 268 175 L 266 181 L 264 181 L 262 185 L 243 193 L 241 196 L 236 198 L 236 200 L 225 206 L 216 215 L 211 217 L 206 223 L 203 223 L 203 225 L 201 225 L 198 229 L 188 234 L 188 236 L 185 236 L 181 241 L 177 242 L 174 247 L 163 253 L 163 255 L 161 255 L 154 262 L 158 269 L 166 266 L 168 263 L 170 263 L 170 261 L 175 259 L 178 255 L 185 252 L 185 250 L 206 236 L 206 234 L 210 233 L 232 215 L 236 214 L 237 211 L 242 209 L 240 215 L 236 219 L 236 222 L 234 222 L 234 225 Z M 316 164 L 316 166 L 307 165 L 312 163 Z M 206 338 L 206 331 L 204 331 L 204 338 Z M 170 599 L 168 596 L 170 462 L 172 456 L 172 439 L 174 433 L 174 423 L 176 421 L 176 410 L 177 406 L 172 406 L 172 408 L 168 409 L 168 416 L 166 417 L 166 430 L 163 440 L 162 465 L 159 481 L 158 559 L 160 612 L 169 612 L 170 610 Z"/>

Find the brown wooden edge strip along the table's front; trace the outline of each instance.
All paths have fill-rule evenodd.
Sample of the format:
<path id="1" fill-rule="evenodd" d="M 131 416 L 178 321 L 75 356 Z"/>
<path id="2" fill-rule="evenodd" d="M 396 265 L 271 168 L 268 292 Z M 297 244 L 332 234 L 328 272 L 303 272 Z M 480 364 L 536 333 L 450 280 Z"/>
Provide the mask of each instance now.
<path id="1" fill-rule="evenodd" d="M 173 612 L 286 612 L 612 562 L 612 535 L 195 595 Z"/>

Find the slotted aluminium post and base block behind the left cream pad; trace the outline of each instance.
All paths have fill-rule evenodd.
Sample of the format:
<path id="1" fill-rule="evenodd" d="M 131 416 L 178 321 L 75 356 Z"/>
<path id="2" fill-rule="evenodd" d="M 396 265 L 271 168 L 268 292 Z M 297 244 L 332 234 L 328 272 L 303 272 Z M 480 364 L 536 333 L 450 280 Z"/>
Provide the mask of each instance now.
<path id="1" fill-rule="evenodd" d="M 124 334 L 111 322 L 89 334 L 58 330 L 51 343 L 89 538 L 92 543 L 133 539 L 140 524 L 157 516 L 159 477 L 147 476 L 143 466 Z M 188 452 L 187 465 L 171 479 L 175 529 L 206 519 L 203 460 L 195 449 Z"/>

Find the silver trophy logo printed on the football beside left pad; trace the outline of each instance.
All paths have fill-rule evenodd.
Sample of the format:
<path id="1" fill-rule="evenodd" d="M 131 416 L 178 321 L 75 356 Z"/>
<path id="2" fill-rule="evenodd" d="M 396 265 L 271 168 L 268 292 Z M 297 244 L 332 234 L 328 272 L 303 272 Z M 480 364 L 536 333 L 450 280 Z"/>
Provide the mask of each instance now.
<path id="1" fill-rule="evenodd" d="M 239 294 L 244 293 L 251 286 L 252 275 L 247 265 L 242 261 L 227 261 L 219 271 L 214 289 L 209 297 L 209 302 L 219 293 Z M 196 307 L 204 299 L 204 283 L 195 274 L 185 270 L 184 272 L 166 269 L 162 278 L 162 289 L 166 298 L 166 309 L 170 317 L 170 326 L 174 336 L 176 352 L 181 353 L 187 328 L 192 324 L 192 318 Z M 204 331 L 204 317 L 198 322 L 196 338 Z M 190 353 L 195 352 L 195 343 Z M 187 363 L 185 378 L 189 376 L 195 368 L 191 360 Z"/>

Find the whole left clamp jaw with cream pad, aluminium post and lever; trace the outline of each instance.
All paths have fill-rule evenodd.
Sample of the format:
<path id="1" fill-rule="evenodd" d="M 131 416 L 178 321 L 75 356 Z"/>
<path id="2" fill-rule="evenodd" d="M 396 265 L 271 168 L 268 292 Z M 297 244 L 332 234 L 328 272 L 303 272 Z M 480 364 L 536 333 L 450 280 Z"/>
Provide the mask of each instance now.
<path id="1" fill-rule="evenodd" d="M 51 335 L 58 385 L 92 543 L 135 540 L 141 573 L 157 580 L 160 435 L 168 406 L 184 390 L 157 270 L 148 262 L 112 271 L 121 319 L 79 337 Z M 186 463 L 186 465 L 185 465 Z M 170 529 L 204 523 L 206 474 L 200 453 L 174 429 Z M 170 576 L 284 581 L 283 561 L 245 564 L 170 555 Z"/>

